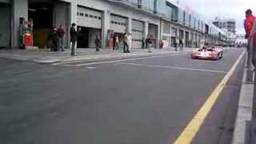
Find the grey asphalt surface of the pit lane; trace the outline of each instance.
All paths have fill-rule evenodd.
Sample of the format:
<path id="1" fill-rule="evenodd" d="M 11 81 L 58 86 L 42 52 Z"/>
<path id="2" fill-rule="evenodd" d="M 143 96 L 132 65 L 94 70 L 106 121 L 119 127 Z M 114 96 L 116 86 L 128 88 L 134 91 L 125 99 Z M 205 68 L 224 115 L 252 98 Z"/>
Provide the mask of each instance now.
<path id="1" fill-rule="evenodd" d="M 170 144 L 242 54 L 42 65 L 0 59 L 0 143 Z M 193 143 L 230 143 L 242 66 Z"/>

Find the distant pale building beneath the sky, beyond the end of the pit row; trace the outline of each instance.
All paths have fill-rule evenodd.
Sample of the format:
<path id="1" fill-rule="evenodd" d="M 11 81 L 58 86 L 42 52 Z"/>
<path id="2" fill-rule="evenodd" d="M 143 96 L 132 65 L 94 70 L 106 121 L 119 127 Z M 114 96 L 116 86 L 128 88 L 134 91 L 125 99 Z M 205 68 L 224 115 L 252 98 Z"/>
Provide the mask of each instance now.
<path id="1" fill-rule="evenodd" d="M 217 26 L 218 28 L 220 29 L 224 29 L 224 30 L 227 30 L 228 32 L 230 33 L 233 33 L 235 34 L 236 32 L 236 22 L 234 19 L 232 18 L 229 18 L 229 19 L 221 19 L 221 18 L 215 18 L 213 24 L 215 26 Z"/>

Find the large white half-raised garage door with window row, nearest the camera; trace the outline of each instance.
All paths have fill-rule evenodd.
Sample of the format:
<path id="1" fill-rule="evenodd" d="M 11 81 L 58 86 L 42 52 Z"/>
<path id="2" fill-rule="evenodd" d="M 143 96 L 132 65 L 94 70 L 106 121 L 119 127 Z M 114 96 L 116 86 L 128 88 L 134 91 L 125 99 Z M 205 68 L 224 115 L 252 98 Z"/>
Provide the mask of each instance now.
<path id="1" fill-rule="evenodd" d="M 78 6 L 78 26 L 102 29 L 102 12 Z"/>

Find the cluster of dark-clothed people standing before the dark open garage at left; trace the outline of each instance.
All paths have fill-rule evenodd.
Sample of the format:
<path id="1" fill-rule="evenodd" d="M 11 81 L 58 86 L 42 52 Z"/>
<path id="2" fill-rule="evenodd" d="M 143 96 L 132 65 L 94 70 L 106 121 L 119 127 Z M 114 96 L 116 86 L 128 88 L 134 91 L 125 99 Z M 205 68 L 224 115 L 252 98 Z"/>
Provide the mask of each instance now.
<path id="1" fill-rule="evenodd" d="M 58 28 L 56 28 L 55 26 L 53 27 L 49 35 L 49 44 L 51 51 L 64 51 L 63 38 L 65 34 L 66 32 L 63 29 L 62 25 L 60 25 Z"/>

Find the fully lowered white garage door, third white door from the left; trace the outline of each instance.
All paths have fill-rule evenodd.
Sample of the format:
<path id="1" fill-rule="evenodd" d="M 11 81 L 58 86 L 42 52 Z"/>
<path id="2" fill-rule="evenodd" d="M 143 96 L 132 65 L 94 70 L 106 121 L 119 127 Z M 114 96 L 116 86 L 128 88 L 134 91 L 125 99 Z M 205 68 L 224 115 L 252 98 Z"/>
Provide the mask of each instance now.
<path id="1" fill-rule="evenodd" d="M 132 47 L 142 48 L 142 40 L 144 37 L 144 23 L 133 20 L 132 21 Z"/>

